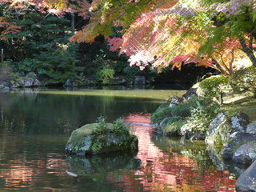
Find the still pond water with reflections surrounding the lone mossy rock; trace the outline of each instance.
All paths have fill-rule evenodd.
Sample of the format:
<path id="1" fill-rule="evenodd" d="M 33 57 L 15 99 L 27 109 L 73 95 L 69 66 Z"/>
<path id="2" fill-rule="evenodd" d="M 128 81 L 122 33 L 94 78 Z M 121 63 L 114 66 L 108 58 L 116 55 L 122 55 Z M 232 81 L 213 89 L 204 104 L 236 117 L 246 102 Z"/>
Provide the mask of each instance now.
<path id="1" fill-rule="evenodd" d="M 0 191 L 235 191 L 203 142 L 154 135 L 150 113 L 172 90 L 21 90 L 0 93 Z M 122 116 L 138 154 L 78 158 L 64 148 L 71 132 Z"/>

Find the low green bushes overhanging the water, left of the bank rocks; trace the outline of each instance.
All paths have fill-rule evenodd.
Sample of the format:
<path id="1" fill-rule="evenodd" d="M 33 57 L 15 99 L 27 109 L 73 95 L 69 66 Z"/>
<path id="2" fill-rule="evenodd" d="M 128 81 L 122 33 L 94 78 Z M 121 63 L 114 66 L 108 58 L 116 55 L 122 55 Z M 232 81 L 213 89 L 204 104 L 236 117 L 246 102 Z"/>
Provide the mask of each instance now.
<path id="1" fill-rule="evenodd" d="M 166 135 L 206 135 L 210 122 L 218 114 L 219 105 L 210 98 L 190 98 L 174 107 L 158 108 L 151 122 L 162 122 L 159 132 Z"/>

